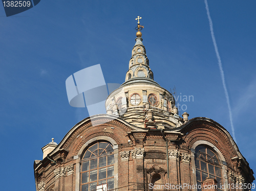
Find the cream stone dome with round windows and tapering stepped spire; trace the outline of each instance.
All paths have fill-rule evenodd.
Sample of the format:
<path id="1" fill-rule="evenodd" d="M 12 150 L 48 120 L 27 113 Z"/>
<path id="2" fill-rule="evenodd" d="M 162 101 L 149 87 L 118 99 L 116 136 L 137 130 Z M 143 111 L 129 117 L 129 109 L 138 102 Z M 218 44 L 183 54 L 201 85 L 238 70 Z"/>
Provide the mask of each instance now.
<path id="1" fill-rule="evenodd" d="M 187 121 L 188 114 L 184 118 L 179 116 L 172 93 L 154 81 L 142 43 L 142 33 L 138 32 L 125 82 L 106 99 L 107 113 L 118 115 L 126 122 L 141 128 L 180 127 Z"/>

